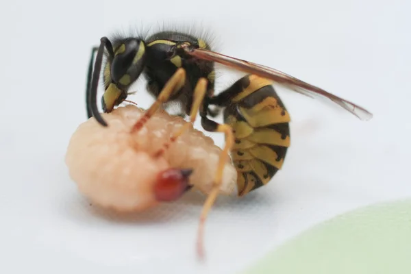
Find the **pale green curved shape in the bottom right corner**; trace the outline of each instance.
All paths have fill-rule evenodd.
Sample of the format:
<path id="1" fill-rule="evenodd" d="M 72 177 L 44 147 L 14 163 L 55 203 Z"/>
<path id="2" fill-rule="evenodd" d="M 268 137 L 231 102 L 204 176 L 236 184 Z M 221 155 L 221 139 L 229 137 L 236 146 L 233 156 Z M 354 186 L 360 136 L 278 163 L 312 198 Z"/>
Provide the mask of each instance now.
<path id="1" fill-rule="evenodd" d="M 316 225 L 243 274 L 411 273 L 411 199 L 379 203 Z"/>

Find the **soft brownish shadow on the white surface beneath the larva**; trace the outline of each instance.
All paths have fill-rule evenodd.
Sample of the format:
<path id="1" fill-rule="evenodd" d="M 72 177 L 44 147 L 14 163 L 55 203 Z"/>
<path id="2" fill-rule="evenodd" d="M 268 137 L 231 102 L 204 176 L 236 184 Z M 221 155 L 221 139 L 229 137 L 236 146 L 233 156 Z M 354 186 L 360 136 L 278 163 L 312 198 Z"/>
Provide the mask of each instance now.
<path id="1" fill-rule="evenodd" d="M 74 184 L 74 183 L 73 183 Z M 87 225 L 92 219 L 108 221 L 112 225 L 132 224 L 132 225 L 167 225 L 169 223 L 179 223 L 186 221 L 186 215 L 194 212 L 201 212 L 206 196 L 197 191 L 190 191 L 178 201 L 173 203 L 162 203 L 154 208 L 142 212 L 117 212 L 110 208 L 101 208 L 93 204 L 89 199 L 79 192 L 66 193 L 58 205 L 61 216 L 75 223 Z M 241 214 L 242 210 L 249 206 L 269 208 L 275 206 L 275 201 L 260 199 L 257 193 L 251 193 L 247 197 L 239 199 L 232 196 L 219 196 L 212 211 L 225 211 L 229 209 L 232 214 Z"/>

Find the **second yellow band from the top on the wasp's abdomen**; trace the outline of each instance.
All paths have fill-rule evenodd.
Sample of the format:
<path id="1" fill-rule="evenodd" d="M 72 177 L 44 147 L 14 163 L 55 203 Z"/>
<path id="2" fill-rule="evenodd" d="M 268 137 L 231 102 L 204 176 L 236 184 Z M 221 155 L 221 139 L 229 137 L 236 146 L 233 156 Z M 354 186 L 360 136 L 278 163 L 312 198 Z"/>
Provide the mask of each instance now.
<path id="1" fill-rule="evenodd" d="M 288 123 L 290 121 L 290 115 L 282 108 L 256 112 L 253 109 L 249 110 L 240 107 L 240 111 L 251 127 L 264 127 L 266 125 Z"/>

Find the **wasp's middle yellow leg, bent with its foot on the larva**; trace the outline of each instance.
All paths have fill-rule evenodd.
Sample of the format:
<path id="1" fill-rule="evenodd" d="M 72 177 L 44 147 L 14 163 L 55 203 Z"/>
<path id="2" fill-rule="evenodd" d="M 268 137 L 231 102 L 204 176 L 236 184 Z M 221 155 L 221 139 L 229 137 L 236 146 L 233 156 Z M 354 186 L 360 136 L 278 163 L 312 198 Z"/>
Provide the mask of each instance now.
<path id="1" fill-rule="evenodd" d="M 190 111 L 190 123 L 186 123 L 177 132 L 174 132 L 173 135 L 170 137 L 169 141 L 164 143 L 163 147 L 155 153 L 155 157 L 162 155 L 162 153 L 164 153 L 164 151 L 166 151 L 166 149 L 168 149 L 170 145 L 173 142 L 175 142 L 175 140 L 177 140 L 179 136 L 182 136 L 182 134 L 184 134 L 188 127 L 190 127 L 190 125 L 192 125 L 195 122 L 197 112 L 199 112 L 201 103 L 203 102 L 203 99 L 206 96 L 207 84 L 208 81 L 206 78 L 199 79 L 194 90 L 194 100 L 192 101 L 192 107 Z"/>

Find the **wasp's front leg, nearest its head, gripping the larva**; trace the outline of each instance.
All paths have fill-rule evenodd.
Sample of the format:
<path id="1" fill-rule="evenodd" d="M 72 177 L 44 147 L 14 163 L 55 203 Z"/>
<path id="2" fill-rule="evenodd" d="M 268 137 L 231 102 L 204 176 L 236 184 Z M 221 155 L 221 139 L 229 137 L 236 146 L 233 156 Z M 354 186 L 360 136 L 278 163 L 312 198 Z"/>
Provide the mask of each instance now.
<path id="1" fill-rule="evenodd" d="M 182 68 L 177 69 L 174 75 L 166 82 L 166 85 L 158 95 L 155 102 L 151 105 L 151 107 L 145 112 L 144 116 L 140 118 L 137 123 L 134 124 L 132 128 L 132 132 L 138 131 L 149 119 L 153 114 L 160 108 L 162 103 L 166 103 L 169 100 L 169 97 L 173 94 L 173 92 L 181 89 L 186 82 L 186 71 Z"/>

